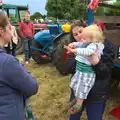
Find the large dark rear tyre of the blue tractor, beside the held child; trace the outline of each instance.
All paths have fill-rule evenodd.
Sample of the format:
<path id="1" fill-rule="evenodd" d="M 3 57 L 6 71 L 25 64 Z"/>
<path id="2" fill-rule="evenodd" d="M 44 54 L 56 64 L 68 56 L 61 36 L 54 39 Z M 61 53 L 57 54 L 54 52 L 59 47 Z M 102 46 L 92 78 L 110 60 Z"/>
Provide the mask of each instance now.
<path id="1" fill-rule="evenodd" d="M 56 39 L 57 44 L 55 43 L 54 52 L 52 55 L 52 62 L 56 66 L 56 69 L 62 75 L 68 74 L 66 71 L 66 66 L 68 65 L 67 62 L 64 61 L 64 55 L 66 54 L 66 50 L 64 49 L 64 45 L 68 45 L 70 40 L 70 34 L 65 34 L 62 37 Z"/>

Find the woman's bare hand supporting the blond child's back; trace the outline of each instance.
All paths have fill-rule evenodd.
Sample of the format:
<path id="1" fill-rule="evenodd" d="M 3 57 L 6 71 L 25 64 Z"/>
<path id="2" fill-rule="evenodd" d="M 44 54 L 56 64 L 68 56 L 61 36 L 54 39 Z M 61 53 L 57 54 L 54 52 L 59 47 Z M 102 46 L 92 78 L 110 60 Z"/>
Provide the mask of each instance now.
<path id="1" fill-rule="evenodd" d="M 93 55 L 91 55 L 89 58 L 89 62 L 92 64 L 92 65 L 96 65 L 99 63 L 99 57 L 98 57 L 98 49 L 96 49 L 95 53 Z"/>

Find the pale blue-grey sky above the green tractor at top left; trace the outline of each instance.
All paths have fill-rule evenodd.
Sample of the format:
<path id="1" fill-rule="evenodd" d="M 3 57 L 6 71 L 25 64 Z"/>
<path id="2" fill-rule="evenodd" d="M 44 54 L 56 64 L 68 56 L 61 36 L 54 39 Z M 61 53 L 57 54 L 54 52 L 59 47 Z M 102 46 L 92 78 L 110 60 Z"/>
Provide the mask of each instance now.
<path id="1" fill-rule="evenodd" d="M 45 4 L 47 0 L 2 0 L 5 4 L 29 5 L 30 13 L 40 12 L 46 14 Z"/>

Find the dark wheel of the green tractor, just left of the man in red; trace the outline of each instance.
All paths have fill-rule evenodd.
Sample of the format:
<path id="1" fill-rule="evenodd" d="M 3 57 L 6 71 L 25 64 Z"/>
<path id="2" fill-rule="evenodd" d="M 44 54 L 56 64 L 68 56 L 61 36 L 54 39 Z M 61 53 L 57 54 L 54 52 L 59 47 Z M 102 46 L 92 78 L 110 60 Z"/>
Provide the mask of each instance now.
<path id="1" fill-rule="evenodd" d="M 20 36 L 18 36 L 18 44 L 16 47 L 16 54 L 17 55 L 23 53 L 23 45 L 24 45 L 23 40 L 20 38 Z"/>

